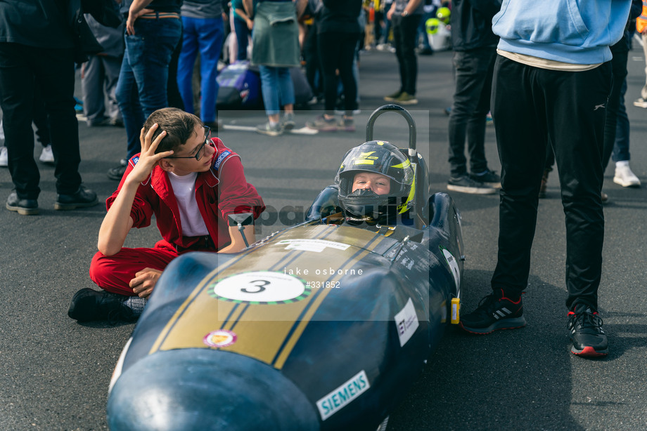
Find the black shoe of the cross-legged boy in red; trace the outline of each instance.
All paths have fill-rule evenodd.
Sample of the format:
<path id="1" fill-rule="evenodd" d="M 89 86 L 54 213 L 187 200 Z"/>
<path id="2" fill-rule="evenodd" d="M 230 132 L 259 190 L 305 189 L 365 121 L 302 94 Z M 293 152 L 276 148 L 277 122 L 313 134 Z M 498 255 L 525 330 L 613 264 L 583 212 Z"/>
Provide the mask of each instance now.
<path id="1" fill-rule="evenodd" d="M 81 289 L 72 296 L 68 316 L 78 321 L 136 321 L 139 314 L 124 305 L 128 296 L 107 291 Z"/>

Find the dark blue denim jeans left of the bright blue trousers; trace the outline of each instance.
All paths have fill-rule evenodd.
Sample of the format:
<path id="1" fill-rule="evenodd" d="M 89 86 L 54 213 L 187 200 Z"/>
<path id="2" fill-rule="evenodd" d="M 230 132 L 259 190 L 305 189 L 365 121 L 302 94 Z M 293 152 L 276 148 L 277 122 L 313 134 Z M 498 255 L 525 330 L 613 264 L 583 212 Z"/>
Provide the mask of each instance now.
<path id="1" fill-rule="evenodd" d="M 128 158 L 141 151 L 139 131 L 146 118 L 168 106 L 169 62 L 181 32 L 179 19 L 139 18 L 135 34 L 124 35 L 126 51 L 116 93 L 126 128 Z"/>

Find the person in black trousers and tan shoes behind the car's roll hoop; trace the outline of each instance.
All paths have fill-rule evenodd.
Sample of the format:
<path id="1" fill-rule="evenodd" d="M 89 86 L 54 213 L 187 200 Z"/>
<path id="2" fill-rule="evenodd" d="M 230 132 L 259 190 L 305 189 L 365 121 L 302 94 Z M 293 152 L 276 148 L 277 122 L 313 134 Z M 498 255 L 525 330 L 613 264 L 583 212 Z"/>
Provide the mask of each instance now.
<path id="1" fill-rule="evenodd" d="M 416 80 L 418 58 L 416 36 L 423 16 L 422 0 L 395 0 L 386 16 L 393 26 L 395 55 L 400 69 L 400 89 L 387 95 L 384 100 L 399 105 L 416 105 Z"/>

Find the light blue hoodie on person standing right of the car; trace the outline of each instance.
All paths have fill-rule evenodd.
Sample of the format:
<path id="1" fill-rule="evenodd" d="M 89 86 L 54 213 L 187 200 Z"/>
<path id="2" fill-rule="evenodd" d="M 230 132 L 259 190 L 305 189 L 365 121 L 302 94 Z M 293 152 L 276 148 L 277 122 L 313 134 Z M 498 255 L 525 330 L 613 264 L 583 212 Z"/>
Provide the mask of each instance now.
<path id="1" fill-rule="evenodd" d="M 492 18 L 499 49 L 576 65 L 611 60 L 631 0 L 504 0 Z"/>

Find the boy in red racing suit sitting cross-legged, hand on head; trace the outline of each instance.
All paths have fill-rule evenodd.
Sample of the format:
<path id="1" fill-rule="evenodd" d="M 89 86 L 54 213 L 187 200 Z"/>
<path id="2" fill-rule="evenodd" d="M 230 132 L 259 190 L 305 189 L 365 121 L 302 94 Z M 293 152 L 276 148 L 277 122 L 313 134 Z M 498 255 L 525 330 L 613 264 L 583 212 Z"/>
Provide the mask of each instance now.
<path id="1" fill-rule="evenodd" d="M 119 187 L 106 201 L 90 277 L 103 291 L 81 289 L 68 315 L 78 321 L 133 321 L 165 267 L 188 251 L 236 253 L 251 244 L 254 227 L 228 227 L 227 216 L 265 206 L 247 183 L 241 159 L 198 117 L 175 108 L 150 114 L 141 129 L 141 153 L 129 160 Z M 132 227 L 155 214 L 162 239 L 154 248 L 124 248 Z"/>

